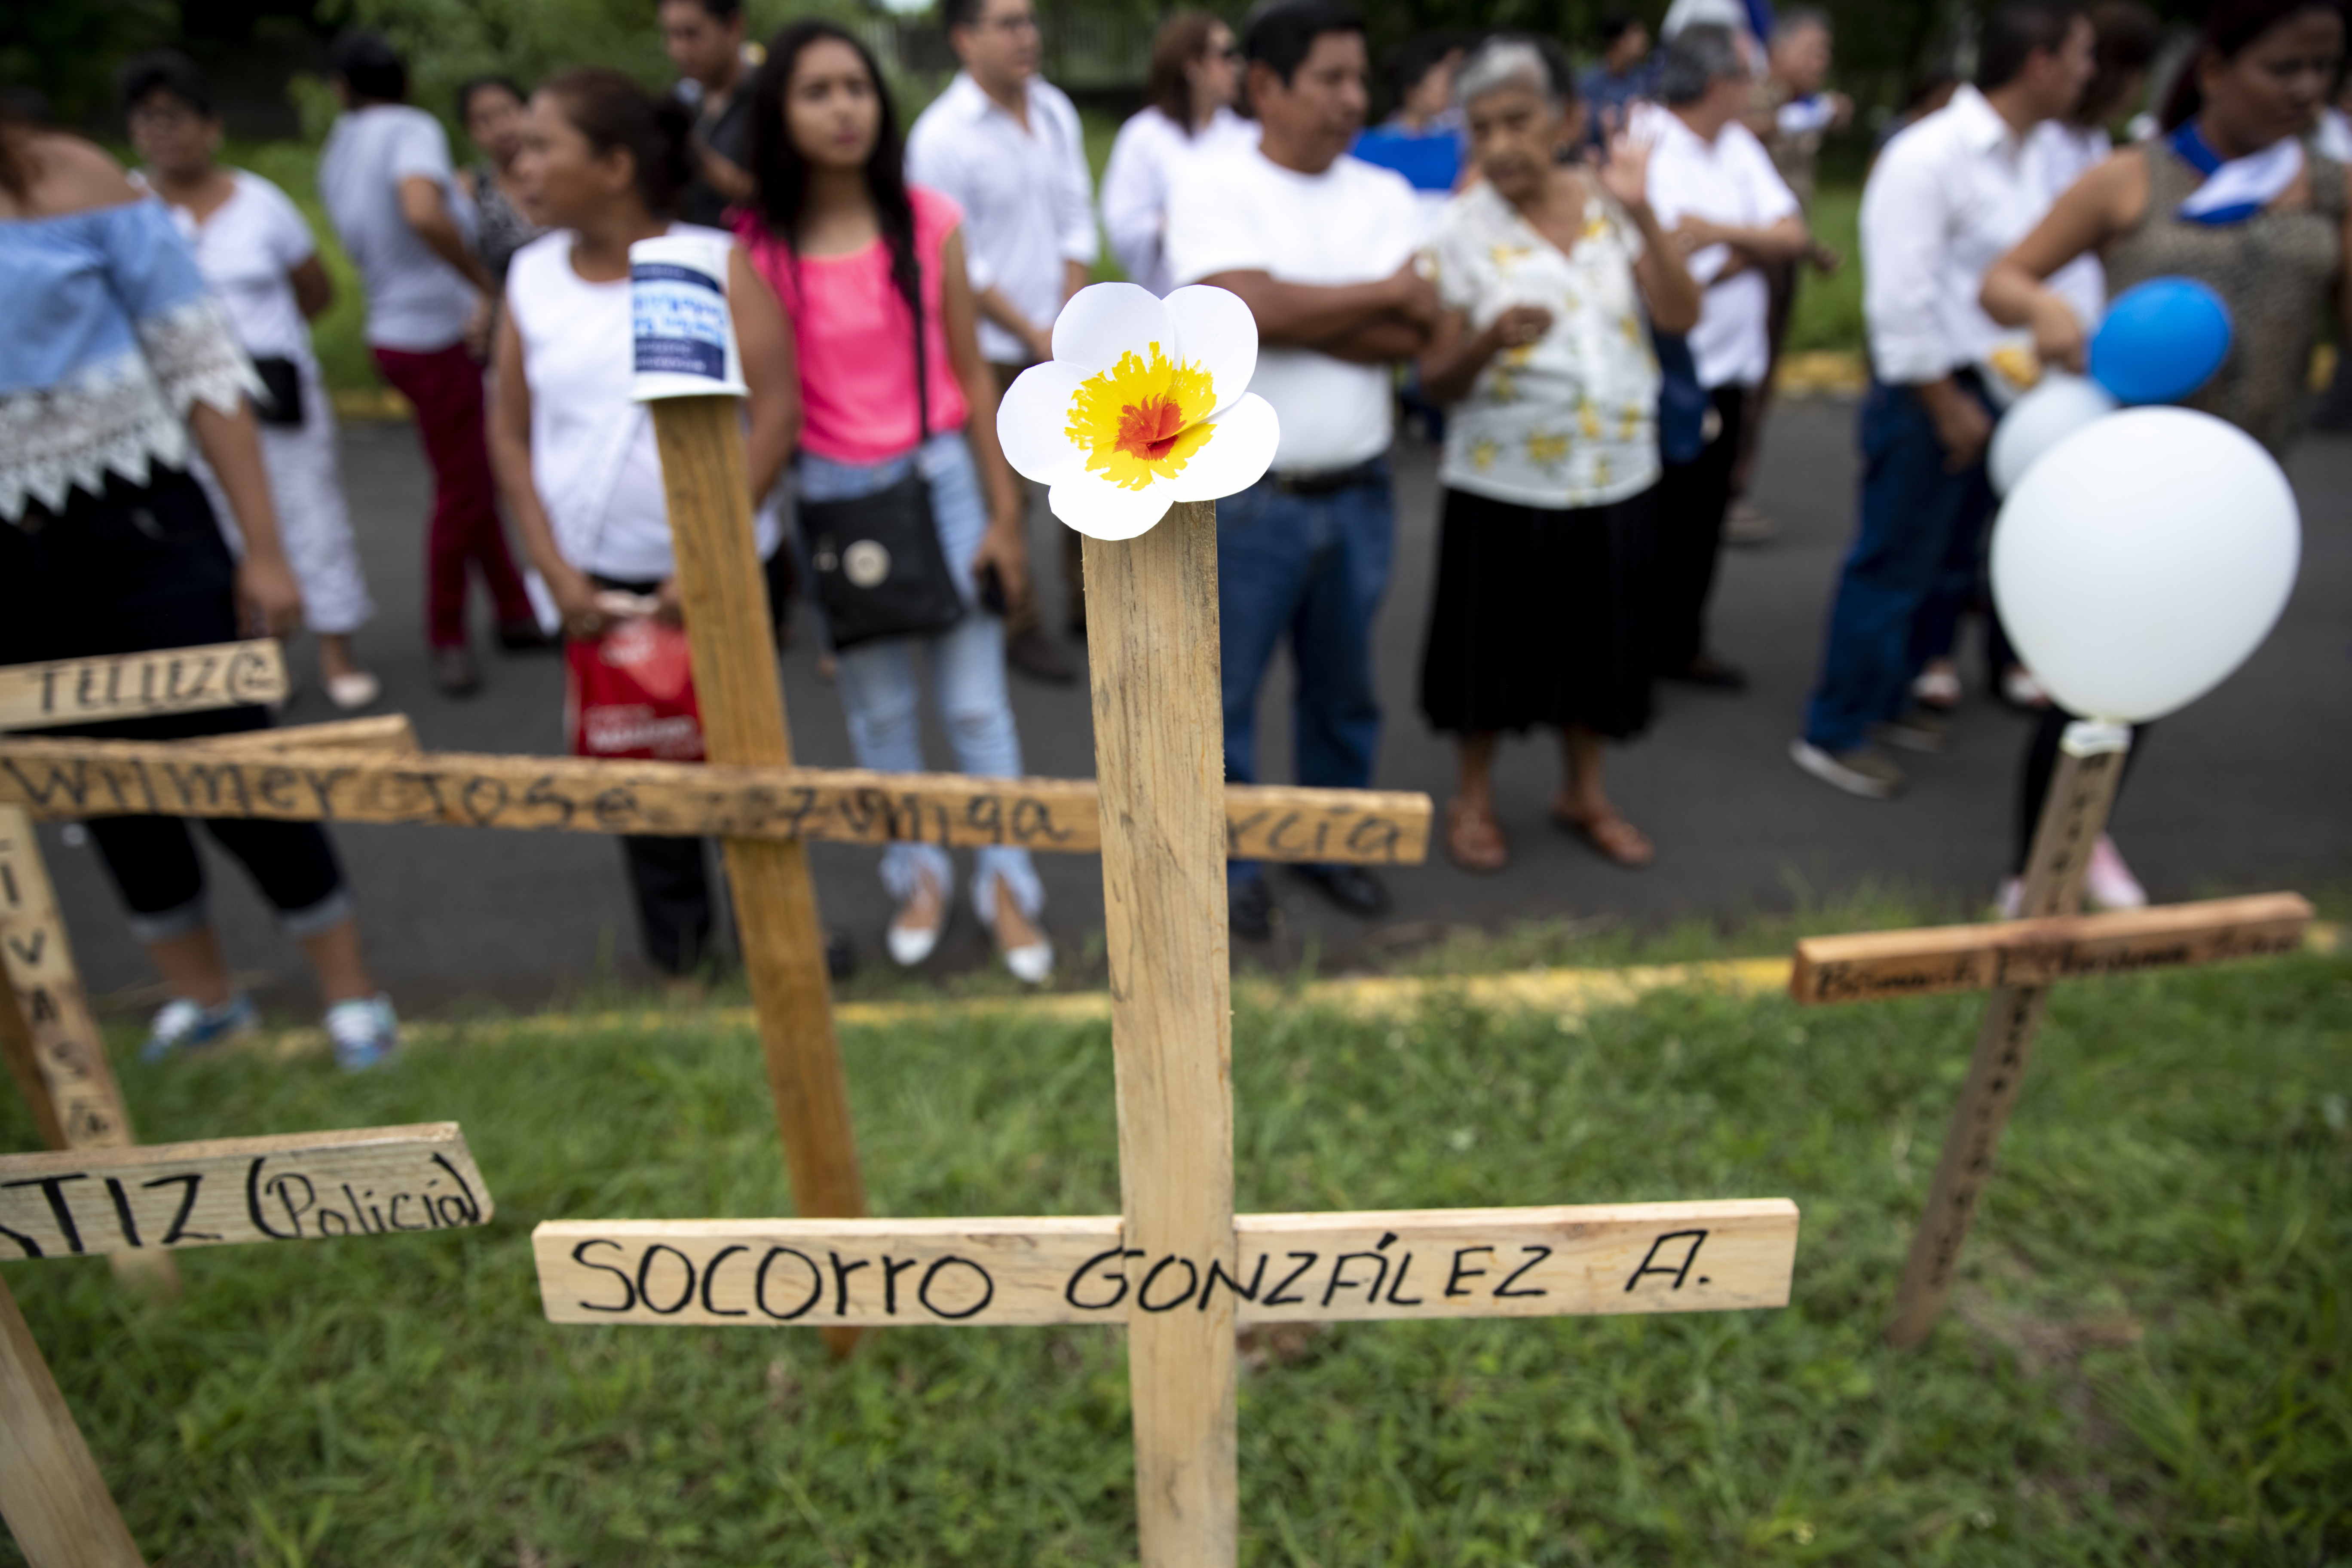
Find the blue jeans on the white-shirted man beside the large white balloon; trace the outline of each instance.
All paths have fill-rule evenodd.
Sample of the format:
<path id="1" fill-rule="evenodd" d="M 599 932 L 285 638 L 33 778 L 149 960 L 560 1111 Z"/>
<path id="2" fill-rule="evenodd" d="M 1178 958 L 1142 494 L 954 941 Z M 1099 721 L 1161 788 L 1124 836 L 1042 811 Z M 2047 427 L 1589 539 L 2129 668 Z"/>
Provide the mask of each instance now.
<path id="1" fill-rule="evenodd" d="M 1966 376 L 1964 386 L 1976 395 Z M 1952 646 L 1992 517 L 1983 461 L 1966 473 L 1945 468 L 1917 388 L 1872 381 L 1860 444 L 1863 522 L 1837 578 L 1820 679 L 1804 710 L 1804 738 L 1828 752 L 1853 750 L 1872 724 L 1898 717 L 1919 668 Z"/>

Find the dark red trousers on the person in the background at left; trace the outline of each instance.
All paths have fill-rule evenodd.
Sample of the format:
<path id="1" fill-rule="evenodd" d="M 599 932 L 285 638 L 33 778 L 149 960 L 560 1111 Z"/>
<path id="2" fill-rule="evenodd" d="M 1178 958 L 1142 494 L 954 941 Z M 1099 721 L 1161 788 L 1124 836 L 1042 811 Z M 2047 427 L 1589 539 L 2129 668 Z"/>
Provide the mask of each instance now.
<path id="1" fill-rule="evenodd" d="M 463 343 L 409 353 L 376 348 L 376 367 L 416 407 L 416 435 L 433 463 L 433 524 L 426 534 L 426 642 L 466 644 L 466 564 L 482 574 L 499 625 L 536 625 L 506 552 L 499 487 L 482 437 L 482 367 Z"/>

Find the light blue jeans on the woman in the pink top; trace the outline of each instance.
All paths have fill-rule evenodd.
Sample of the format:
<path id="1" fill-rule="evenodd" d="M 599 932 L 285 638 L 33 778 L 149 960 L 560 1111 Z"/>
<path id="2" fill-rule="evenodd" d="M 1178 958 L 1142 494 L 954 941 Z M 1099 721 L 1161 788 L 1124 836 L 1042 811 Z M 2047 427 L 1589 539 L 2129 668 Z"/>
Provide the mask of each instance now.
<path id="1" fill-rule="evenodd" d="M 849 750 L 858 766 L 880 773 L 922 771 L 922 668 L 929 668 L 931 696 L 941 726 L 955 748 L 955 766 L 974 778 L 1018 778 L 1021 733 L 1014 729 L 1011 701 L 1004 696 L 1004 623 L 978 609 L 971 588 L 971 552 L 988 531 L 988 505 L 981 501 L 981 477 L 971 468 L 971 449 L 957 433 L 934 435 L 920 454 L 887 463 L 835 463 L 814 451 L 800 454 L 797 491 L 804 501 L 851 501 L 896 484 L 908 463 L 920 456 L 931 482 L 931 517 L 938 522 L 938 545 L 948 555 L 948 576 L 971 607 L 962 621 L 934 637 L 882 637 L 861 642 L 840 656 L 842 708 L 849 712 Z M 929 872 L 946 896 L 955 896 L 955 863 L 938 844 L 891 844 L 882 851 L 882 886 L 906 900 L 917 879 Z M 1014 905 L 1035 917 L 1044 910 L 1044 884 L 1025 849 L 990 844 L 978 851 L 978 875 L 971 907 L 981 919 L 995 919 L 997 886 Z"/>

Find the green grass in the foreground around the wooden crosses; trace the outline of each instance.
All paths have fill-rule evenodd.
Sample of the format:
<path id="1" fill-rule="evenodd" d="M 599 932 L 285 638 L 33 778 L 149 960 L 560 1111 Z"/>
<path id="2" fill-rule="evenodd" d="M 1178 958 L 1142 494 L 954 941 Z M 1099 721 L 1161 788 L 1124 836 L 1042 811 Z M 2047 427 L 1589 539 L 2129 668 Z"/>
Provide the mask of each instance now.
<path id="1" fill-rule="evenodd" d="M 1736 943 L 1733 943 L 1736 945 Z M 1722 945 L 1717 947 L 1722 950 Z M 2352 961 L 2065 987 L 1952 1314 L 1879 1342 L 1978 1001 L 1585 1023 L 1244 1009 L 1247 1208 L 1771 1197 L 1795 1305 L 1341 1326 L 1242 1378 L 1247 1563 L 2317 1563 L 2352 1552 Z M 1108 1032 L 849 1030 L 875 1204 L 1115 1208 Z M 786 1211 L 757 1046 L 120 1065 L 151 1140 L 454 1117 L 482 1232 L 7 1265 L 151 1559 L 1134 1561 L 1105 1331 L 555 1328 L 543 1218 Z M 31 1147 L 14 1098 L 0 1147 Z"/>

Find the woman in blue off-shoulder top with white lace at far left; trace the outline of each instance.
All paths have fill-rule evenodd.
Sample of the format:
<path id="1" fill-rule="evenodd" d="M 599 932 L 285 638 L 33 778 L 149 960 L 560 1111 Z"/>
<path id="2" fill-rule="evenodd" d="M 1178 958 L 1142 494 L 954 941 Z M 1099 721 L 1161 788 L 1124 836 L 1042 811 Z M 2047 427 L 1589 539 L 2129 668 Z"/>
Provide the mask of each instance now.
<path id="1" fill-rule="evenodd" d="M 259 381 L 162 205 L 87 141 L 0 120 L 0 665 L 289 632 L 301 592 L 247 402 Z M 245 534 L 242 562 L 188 473 L 198 449 Z M 167 741 L 268 722 L 228 708 L 87 733 Z M 318 971 L 336 1058 L 383 1060 L 397 1025 L 360 957 L 327 835 L 245 818 L 207 827 Z M 252 1027 L 188 825 L 101 816 L 89 835 L 172 994 L 148 1056 Z"/>

